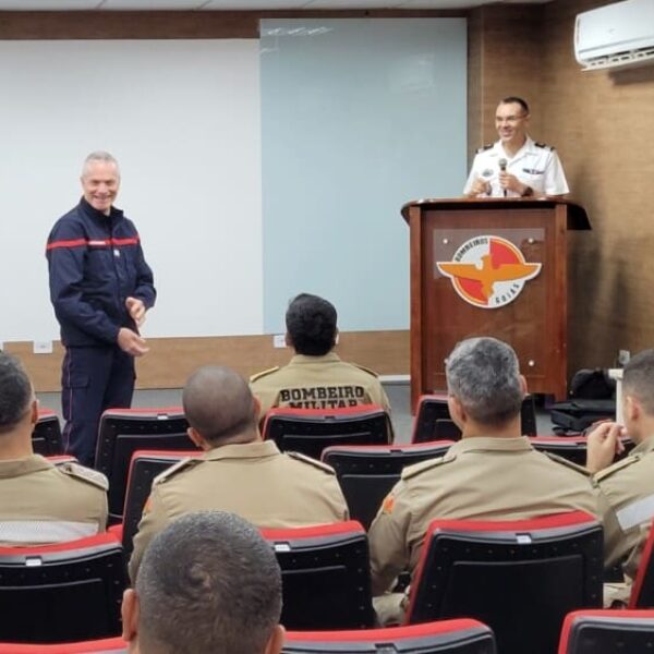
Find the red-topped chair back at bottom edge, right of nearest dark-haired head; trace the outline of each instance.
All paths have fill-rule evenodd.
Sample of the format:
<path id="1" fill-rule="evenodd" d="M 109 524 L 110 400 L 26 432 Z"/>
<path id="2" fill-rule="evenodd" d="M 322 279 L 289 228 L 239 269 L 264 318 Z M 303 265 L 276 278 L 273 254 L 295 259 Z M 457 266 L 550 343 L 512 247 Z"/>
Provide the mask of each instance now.
<path id="1" fill-rule="evenodd" d="M 362 631 L 289 631 L 283 654 L 495 654 L 493 631 L 477 620 L 441 620 Z M 0 651 L 0 654 L 1 651 Z"/>

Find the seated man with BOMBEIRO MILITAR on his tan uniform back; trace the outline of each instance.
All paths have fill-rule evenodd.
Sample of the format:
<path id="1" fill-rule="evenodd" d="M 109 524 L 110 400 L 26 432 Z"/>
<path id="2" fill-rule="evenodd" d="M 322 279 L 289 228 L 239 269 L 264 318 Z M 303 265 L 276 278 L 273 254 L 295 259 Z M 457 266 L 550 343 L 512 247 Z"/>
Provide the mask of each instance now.
<path id="1" fill-rule="evenodd" d="M 375 373 L 341 361 L 334 347 L 336 308 L 327 300 L 302 293 L 286 314 L 287 346 L 295 351 L 288 365 L 253 375 L 252 392 L 261 403 L 261 419 L 272 407 L 343 409 L 390 402 Z"/>

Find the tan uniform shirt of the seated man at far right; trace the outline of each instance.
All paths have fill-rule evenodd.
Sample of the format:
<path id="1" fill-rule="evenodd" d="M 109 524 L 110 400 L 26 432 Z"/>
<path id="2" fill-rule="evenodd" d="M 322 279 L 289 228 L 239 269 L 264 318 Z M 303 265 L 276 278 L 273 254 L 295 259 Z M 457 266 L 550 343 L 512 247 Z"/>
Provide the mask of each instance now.
<path id="1" fill-rule="evenodd" d="M 605 565 L 628 557 L 623 570 L 633 579 L 654 519 L 654 436 L 622 461 L 596 473 L 594 483 L 600 487 L 604 518 Z"/>

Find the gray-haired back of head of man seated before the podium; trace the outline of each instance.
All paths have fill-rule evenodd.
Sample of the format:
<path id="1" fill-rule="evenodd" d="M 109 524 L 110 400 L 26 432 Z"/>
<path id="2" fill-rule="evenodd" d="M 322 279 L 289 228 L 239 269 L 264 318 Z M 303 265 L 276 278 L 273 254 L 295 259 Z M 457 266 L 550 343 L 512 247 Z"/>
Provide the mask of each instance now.
<path id="1" fill-rule="evenodd" d="M 520 413 L 523 392 L 518 356 L 496 338 L 470 338 L 452 350 L 446 364 L 448 392 L 477 423 L 499 426 Z"/>

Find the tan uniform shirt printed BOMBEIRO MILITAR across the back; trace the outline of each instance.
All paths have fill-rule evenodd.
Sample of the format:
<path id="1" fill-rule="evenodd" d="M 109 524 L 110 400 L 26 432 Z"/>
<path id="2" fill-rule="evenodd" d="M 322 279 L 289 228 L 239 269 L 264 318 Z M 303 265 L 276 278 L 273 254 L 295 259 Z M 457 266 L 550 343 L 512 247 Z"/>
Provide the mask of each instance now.
<path id="1" fill-rule="evenodd" d="M 288 365 L 253 375 L 252 392 L 258 398 L 263 419 L 272 407 L 293 409 L 344 409 L 390 402 L 375 373 L 341 361 L 336 352 L 324 356 L 295 354 Z"/>

